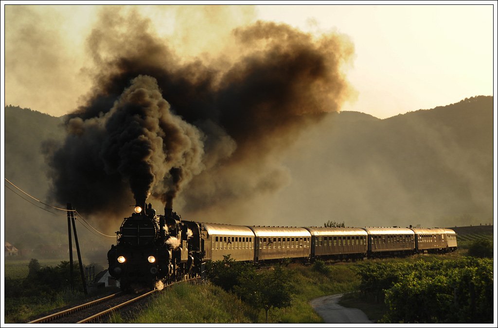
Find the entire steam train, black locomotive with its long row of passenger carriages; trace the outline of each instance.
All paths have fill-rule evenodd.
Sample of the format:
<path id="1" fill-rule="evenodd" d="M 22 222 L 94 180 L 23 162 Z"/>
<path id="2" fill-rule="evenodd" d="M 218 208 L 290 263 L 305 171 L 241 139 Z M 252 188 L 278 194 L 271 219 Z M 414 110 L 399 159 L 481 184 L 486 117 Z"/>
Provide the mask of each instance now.
<path id="1" fill-rule="evenodd" d="M 182 220 L 172 209 L 156 215 L 137 202 L 135 213 L 117 231 L 108 252 L 109 273 L 121 289 L 155 289 L 204 274 L 207 261 L 255 264 L 291 258 L 361 259 L 446 253 L 457 248 L 455 231 L 446 228 L 276 227 Z"/>

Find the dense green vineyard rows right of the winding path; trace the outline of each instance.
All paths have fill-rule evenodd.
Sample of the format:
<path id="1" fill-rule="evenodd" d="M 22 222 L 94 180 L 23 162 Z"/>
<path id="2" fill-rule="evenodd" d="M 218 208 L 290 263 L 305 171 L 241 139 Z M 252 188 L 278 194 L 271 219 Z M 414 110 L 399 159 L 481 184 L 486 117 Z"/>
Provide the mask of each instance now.
<path id="1" fill-rule="evenodd" d="M 385 296 L 385 323 L 493 321 L 492 260 L 381 262 L 365 265 L 359 276 L 362 291 Z"/>

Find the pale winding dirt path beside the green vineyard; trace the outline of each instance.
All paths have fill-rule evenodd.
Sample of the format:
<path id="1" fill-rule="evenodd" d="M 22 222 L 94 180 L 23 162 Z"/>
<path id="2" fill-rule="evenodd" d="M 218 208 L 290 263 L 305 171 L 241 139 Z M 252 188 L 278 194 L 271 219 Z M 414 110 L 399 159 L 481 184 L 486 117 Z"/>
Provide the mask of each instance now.
<path id="1" fill-rule="evenodd" d="M 372 324 L 359 309 L 349 309 L 337 304 L 343 294 L 329 295 L 310 301 L 310 305 L 326 324 Z"/>

